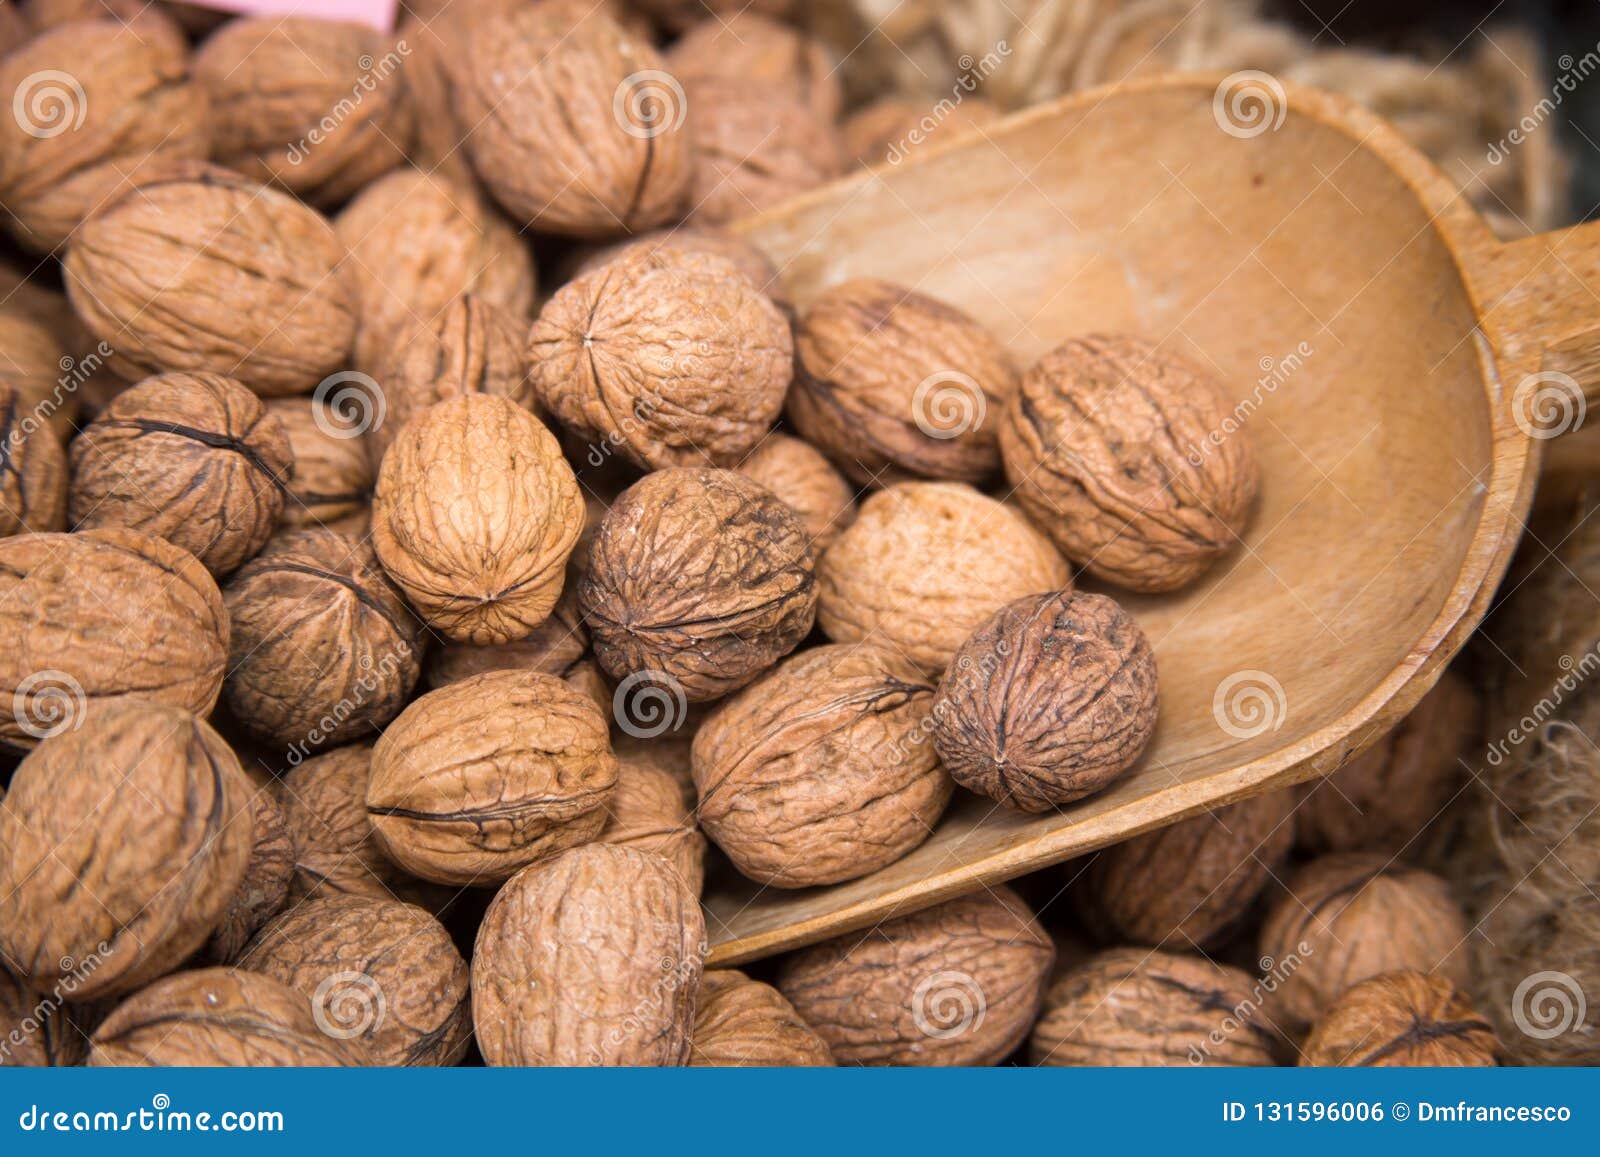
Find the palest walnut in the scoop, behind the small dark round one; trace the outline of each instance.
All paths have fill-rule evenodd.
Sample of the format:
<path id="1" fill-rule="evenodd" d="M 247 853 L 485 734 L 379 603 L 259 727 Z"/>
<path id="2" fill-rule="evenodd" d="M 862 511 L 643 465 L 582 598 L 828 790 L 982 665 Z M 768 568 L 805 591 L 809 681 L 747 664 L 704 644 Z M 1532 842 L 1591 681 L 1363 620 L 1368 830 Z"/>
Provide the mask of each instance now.
<path id="1" fill-rule="evenodd" d="M 990 615 L 1069 591 L 1050 541 L 1006 506 L 954 482 L 906 482 L 861 504 L 816 568 L 818 623 L 840 643 L 877 639 L 930 675 Z"/>

